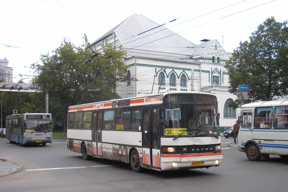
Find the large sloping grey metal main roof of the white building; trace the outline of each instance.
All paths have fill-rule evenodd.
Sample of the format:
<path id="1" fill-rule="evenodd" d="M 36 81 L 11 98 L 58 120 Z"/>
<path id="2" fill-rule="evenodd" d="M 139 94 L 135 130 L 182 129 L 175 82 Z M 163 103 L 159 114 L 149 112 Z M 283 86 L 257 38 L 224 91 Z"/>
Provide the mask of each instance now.
<path id="1" fill-rule="evenodd" d="M 135 49 L 191 55 L 196 47 L 194 43 L 184 37 L 139 14 L 133 14 L 92 44 L 101 41 L 113 32 L 126 51 Z"/>

